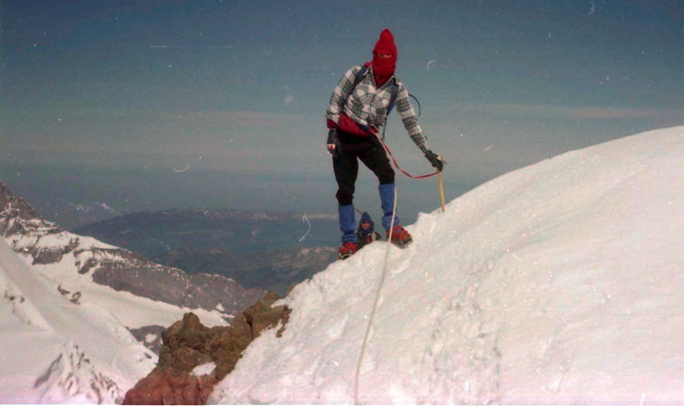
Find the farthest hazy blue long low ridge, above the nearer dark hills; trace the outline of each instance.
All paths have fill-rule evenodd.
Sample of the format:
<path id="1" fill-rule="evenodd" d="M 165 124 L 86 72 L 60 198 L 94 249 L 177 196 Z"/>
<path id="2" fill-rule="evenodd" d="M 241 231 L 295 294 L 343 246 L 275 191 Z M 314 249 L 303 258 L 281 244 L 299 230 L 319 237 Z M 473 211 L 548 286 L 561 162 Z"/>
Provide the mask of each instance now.
<path id="1" fill-rule="evenodd" d="M 146 257 L 185 248 L 265 252 L 337 246 L 340 235 L 337 216 L 230 209 L 136 212 L 80 227 L 74 232 L 135 249 Z"/>

